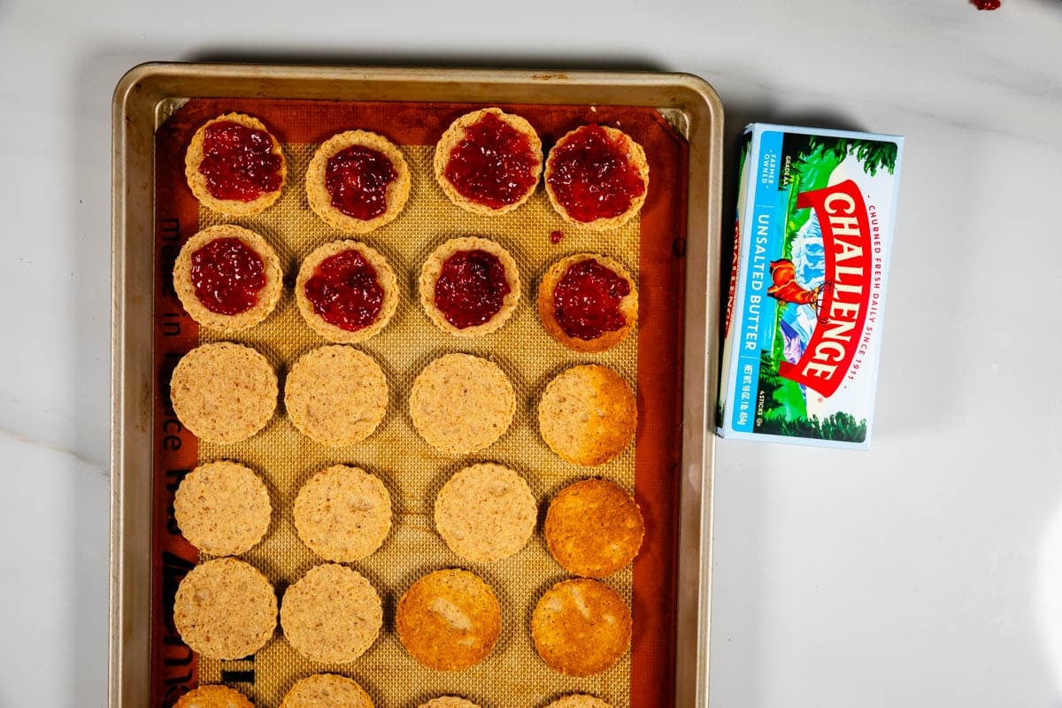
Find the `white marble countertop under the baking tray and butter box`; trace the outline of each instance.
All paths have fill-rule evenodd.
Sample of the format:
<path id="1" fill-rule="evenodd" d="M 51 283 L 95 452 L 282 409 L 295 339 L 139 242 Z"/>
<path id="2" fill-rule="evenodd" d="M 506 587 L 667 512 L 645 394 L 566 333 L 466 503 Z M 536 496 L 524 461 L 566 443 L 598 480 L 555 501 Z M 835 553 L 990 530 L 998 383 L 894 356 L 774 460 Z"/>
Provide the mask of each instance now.
<path id="1" fill-rule="evenodd" d="M 1003 5 L 0 2 L 0 706 L 106 700 L 114 85 L 269 57 L 688 71 L 731 135 L 905 135 L 873 450 L 718 446 L 710 706 L 1062 706 L 1062 2 Z"/>

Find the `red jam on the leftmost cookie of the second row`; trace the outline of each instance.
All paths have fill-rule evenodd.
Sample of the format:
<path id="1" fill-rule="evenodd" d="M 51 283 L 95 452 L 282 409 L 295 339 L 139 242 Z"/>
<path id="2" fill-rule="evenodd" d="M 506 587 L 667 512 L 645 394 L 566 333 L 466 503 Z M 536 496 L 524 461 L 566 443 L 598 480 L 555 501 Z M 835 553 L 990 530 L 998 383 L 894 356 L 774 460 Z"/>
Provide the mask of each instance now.
<path id="1" fill-rule="evenodd" d="M 240 314 L 266 287 L 261 256 L 240 239 L 215 239 L 192 254 L 192 288 L 210 312 Z"/>

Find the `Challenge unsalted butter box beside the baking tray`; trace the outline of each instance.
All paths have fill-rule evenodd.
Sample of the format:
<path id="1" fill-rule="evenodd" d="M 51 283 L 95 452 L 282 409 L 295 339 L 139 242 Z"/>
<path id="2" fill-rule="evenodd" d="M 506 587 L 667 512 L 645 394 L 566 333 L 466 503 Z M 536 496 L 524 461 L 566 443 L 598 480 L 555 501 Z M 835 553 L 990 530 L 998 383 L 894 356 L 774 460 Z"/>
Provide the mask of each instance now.
<path id="1" fill-rule="evenodd" d="M 717 431 L 867 449 L 903 138 L 754 123 L 739 155 Z"/>

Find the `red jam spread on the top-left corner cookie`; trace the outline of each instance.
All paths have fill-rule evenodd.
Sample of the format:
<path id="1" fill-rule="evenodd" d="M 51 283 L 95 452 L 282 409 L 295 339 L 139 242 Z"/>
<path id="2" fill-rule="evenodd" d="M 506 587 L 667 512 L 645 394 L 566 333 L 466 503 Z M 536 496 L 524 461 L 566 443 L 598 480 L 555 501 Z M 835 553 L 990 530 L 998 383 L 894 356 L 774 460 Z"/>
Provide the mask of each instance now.
<path id="1" fill-rule="evenodd" d="M 199 171 L 216 200 L 254 202 L 280 189 L 281 160 L 266 131 L 220 120 L 203 133 Z"/>

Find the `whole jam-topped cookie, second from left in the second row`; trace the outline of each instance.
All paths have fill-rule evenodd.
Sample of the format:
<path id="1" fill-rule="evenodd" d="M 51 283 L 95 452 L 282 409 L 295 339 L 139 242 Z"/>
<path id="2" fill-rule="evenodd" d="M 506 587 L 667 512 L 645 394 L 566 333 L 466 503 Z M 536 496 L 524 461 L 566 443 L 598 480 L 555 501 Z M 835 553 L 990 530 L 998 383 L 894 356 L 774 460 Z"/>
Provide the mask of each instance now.
<path id="1" fill-rule="evenodd" d="M 398 279 L 376 249 L 357 241 L 332 241 L 303 259 L 295 303 L 306 324 L 326 340 L 362 342 L 394 316 Z"/>

